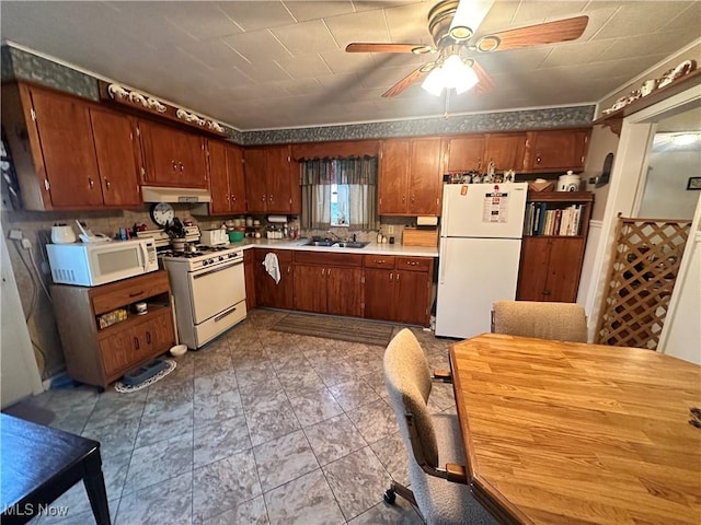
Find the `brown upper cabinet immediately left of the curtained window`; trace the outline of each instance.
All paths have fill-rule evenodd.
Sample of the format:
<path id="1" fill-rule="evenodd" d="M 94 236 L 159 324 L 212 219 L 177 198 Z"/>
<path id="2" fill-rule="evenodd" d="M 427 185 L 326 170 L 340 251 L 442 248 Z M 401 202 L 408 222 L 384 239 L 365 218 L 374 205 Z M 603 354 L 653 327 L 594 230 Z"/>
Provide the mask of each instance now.
<path id="1" fill-rule="evenodd" d="M 289 145 L 246 148 L 243 152 L 246 211 L 299 213 L 301 191 Z"/>

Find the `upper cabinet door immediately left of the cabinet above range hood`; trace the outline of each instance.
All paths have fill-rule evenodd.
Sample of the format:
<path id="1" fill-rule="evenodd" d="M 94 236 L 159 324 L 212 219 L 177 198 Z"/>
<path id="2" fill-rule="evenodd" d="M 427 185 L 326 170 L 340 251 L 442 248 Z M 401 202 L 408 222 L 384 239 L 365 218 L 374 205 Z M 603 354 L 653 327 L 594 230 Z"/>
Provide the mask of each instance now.
<path id="1" fill-rule="evenodd" d="M 141 206 L 134 120 L 107 109 L 90 109 L 105 206 Z"/>

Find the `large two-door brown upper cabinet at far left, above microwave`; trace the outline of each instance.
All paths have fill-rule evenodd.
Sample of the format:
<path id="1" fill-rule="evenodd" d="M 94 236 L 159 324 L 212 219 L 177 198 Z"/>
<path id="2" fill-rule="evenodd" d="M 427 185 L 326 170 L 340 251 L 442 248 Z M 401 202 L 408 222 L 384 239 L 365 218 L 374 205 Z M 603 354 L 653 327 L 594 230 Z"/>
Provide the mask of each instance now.
<path id="1" fill-rule="evenodd" d="M 131 117 L 19 83 L 2 86 L 2 124 L 26 209 L 141 205 Z"/>

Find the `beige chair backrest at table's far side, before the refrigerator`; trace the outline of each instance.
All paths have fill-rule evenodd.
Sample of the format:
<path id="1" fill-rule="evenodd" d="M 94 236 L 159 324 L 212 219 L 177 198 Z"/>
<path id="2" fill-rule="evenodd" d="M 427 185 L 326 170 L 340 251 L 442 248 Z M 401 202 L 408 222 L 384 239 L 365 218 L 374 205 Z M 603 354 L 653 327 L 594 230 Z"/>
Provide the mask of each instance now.
<path id="1" fill-rule="evenodd" d="M 510 336 L 587 342 L 587 317 L 573 303 L 496 301 L 492 331 Z"/>

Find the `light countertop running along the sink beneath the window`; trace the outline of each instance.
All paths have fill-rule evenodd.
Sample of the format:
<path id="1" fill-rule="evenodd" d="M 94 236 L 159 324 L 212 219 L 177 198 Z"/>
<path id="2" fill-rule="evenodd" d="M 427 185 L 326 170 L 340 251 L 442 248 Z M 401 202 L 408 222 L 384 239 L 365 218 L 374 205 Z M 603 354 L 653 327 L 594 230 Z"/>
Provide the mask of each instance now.
<path id="1" fill-rule="evenodd" d="M 329 252 L 333 254 L 398 255 L 414 257 L 438 257 L 438 247 L 403 246 L 401 244 L 370 243 L 363 248 L 334 248 L 332 246 L 304 246 L 309 238 L 245 238 L 240 243 L 229 243 L 229 247 L 296 249 L 301 252 Z"/>

